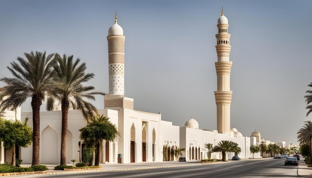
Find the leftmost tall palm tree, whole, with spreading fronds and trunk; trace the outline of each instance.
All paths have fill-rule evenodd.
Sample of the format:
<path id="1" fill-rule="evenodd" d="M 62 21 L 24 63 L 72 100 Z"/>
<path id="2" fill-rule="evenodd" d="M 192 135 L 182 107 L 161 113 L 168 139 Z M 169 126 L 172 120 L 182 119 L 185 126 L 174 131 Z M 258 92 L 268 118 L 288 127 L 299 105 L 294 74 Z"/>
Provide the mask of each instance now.
<path id="1" fill-rule="evenodd" d="M 40 106 L 48 91 L 53 88 L 53 54 L 30 52 L 24 53 L 26 59 L 17 58 L 19 62 L 10 63 L 7 69 L 13 78 L 1 78 L 6 86 L 0 93 L 0 98 L 5 98 L 0 104 L 2 111 L 6 108 L 16 109 L 28 97 L 31 97 L 32 108 L 32 163 L 40 164 Z"/>

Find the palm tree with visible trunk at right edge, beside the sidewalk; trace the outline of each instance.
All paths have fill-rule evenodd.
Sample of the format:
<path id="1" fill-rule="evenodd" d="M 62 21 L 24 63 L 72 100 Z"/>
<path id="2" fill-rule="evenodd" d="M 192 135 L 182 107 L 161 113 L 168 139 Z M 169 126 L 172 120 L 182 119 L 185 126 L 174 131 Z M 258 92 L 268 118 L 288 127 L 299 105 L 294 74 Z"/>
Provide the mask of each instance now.
<path id="1" fill-rule="evenodd" d="M 310 145 L 310 160 L 312 160 L 312 122 L 310 120 L 305 121 L 305 125 L 297 133 L 297 138 L 300 145 Z"/>

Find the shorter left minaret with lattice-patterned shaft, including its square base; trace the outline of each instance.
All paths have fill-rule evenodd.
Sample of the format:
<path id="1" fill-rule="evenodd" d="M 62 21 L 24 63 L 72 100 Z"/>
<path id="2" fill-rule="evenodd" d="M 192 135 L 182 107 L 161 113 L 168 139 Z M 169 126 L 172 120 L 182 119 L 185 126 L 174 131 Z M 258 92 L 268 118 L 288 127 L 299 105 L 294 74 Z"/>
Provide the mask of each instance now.
<path id="1" fill-rule="evenodd" d="M 123 28 L 117 23 L 108 30 L 109 94 L 105 95 L 104 108 L 133 109 L 133 99 L 125 97 L 125 36 Z"/>

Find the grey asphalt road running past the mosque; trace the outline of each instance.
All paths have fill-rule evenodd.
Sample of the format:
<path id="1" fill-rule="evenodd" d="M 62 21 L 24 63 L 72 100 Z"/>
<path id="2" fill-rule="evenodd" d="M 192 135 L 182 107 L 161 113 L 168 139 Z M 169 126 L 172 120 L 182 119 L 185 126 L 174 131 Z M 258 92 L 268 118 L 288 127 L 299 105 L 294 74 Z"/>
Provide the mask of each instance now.
<path id="1" fill-rule="evenodd" d="M 30 175 L 29 175 L 30 176 Z M 25 176 L 27 177 L 27 176 Z M 284 159 L 242 160 L 225 164 L 132 171 L 86 172 L 62 175 L 31 175 L 31 178 L 298 178 L 297 166 Z"/>

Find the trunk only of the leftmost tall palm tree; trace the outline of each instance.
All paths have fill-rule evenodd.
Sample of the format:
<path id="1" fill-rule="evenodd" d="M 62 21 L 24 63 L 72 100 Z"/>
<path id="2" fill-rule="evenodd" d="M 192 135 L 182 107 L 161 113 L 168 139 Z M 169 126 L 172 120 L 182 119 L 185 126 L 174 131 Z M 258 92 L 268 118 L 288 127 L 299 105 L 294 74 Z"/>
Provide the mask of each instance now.
<path id="1" fill-rule="evenodd" d="M 41 97 L 33 95 L 31 98 L 32 108 L 32 163 L 31 166 L 40 164 L 40 106 Z"/>

